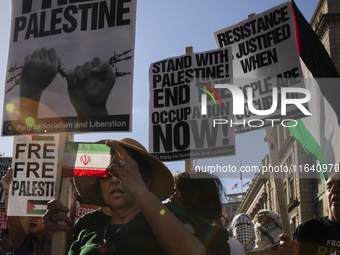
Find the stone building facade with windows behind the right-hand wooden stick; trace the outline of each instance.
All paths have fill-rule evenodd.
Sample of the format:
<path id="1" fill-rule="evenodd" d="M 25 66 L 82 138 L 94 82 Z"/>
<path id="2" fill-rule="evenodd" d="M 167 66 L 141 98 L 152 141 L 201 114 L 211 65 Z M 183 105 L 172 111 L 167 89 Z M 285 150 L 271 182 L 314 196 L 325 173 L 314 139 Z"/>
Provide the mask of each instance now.
<path id="1" fill-rule="evenodd" d="M 287 128 L 275 128 L 279 149 L 280 165 L 286 166 L 315 166 L 314 159 L 309 156 L 302 146 L 290 135 Z M 261 162 L 262 166 L 272 165 L 270 157 L 266 155 Z M 327 200 L 325 192 L 318 177 L 318 173 L 296 168 L 296 172 L 283 173 L 284 196 L 290 217 L 292 230 L 303 221 L 312 217 L 322 217 L 327 214 Z M 237 213 L 247 213 L 251 217 L 261 209 L 279 212 L 273 173 L 255 175 L 249 186 Z"/>

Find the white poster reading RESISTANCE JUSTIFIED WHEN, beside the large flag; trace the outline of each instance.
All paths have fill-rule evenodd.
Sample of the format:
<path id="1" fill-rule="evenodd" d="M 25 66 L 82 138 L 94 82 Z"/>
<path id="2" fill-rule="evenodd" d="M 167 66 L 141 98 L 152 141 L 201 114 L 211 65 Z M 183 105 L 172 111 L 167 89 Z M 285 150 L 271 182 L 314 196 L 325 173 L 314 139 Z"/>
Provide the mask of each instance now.
<path id="1" fill-rule="evenodd" d="M 268 21 L 267 21 L 268 20 Z M 299 53 L 296 44 L 294 17 L 291 2 L 287 1 L 258 15 L 249 17 L 235 25 L 214 32 L 217 47 L 231 46 L 233 49 L 234 84 L 243 89 L 253 87 L 255 108 L 269 109 L 272 87 L 280 86 L 304 87 L 300 67 Z M 265 79 L 269 79 L 269 85 Z M 290 78 L 284 80 L 284 78 Z M 296 78 L 297 77 L 297 78 Z M 278 78 L 278 79 L 277 79 Z M 281 79 L 280 79 L 281 78 Z M 296 78 L 296 79 L 294 79 Z M 256 87 L 255 87 L 256 86 Z M 301 94 L 297 96 L 301 97 Z M 304 97 L 304 96 L 302 96 Z M 280 95 L 278 104 L 280 105 Z M 258 105 L 256 105 L 258 104 Z M 281 108 L 267 116 L 259 116 L 245 109 L 245 116 L 236 116 L 235 121 L 246 122 L 252 119 L 299 119 L 304 114 L 295 105 L 287 106 L 287 116 L 281 116 Z M 246 116 L 248 115 L 248 116 Z M 266 121 L 263 127 L 271 126 Z M 279 121 L 274 123 L 280 124 Z M 243 133 L 253 130 L 249 125 L 238 125 L 236 132 Z"/>

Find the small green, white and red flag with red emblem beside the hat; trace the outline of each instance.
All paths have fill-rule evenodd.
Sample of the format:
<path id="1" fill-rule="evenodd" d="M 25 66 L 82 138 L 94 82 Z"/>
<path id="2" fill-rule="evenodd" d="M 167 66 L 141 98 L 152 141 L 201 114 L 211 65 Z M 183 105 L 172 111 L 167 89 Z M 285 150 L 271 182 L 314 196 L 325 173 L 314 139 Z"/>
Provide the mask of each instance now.
<path id="1" fill-rule="evenodd" d="M 110 152 L 106 144 L 67 142 L 61 175 L 105 178 L 111 162 Z"/>

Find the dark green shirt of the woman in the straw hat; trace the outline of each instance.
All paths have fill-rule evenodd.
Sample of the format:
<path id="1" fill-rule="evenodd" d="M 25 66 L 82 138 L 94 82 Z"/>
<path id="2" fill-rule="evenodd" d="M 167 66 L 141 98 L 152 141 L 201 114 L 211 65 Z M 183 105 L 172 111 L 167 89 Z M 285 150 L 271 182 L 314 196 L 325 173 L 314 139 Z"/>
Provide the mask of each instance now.
<path id="1" fill-rule="evenodd" d="M 183 223 L 195 225 L 191 214 L 178 203 L 168 203 L 165 206 Z M 110 250 L 105 254 L 165 254 L 156 240 L 142 212 L 122 225 L 108 225 L 106 239 Z M 120 230 L 118 230 L 121 227 Z M 117 231 L 118 230 L 118 231 Z M 166 231 L 166 230 L 165 230 Z M 103 243 L 105 226 L 96 225 L 80 232 L 78 239 L 72 244 L 69 255 L 103 254 L 98 247 Z M 117 233 L 116 233 L 117 232 Z"/>

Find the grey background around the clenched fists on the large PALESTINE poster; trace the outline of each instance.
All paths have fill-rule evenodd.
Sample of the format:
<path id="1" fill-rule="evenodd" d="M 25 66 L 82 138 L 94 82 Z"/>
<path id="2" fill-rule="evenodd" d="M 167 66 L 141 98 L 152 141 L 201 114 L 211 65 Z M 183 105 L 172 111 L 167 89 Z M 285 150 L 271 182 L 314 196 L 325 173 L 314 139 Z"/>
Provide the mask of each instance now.
<path id="1" fill-rule="evenodd" d="M 48 9 L 41 8 L 41 1 L 33 1 L 32 10 L 30 13 L 22 14 L 22 1 L 12 1 L 12 24 L 11 24 L 11 37 L 10 37 L 10 49 L 9 49 L 9 58 L 8 58 L 8 68 L 20 67 L 24 64 L 24 58 L 27 55 L 32 55 L 35 50 L 40 50 L 45 47 L 46 49 L 50 49 L 53 47 L 56 50 L 58 57 L 60 58 L 60 62 L 62 64 L 61 68 L 64 71 L 69 69 L 75 69 L 76 66 L 83 65 L 85 62 L 92 61 L 94 57 L 99 57 L 102 61 L 109 61 L 111 57 L 115 54 L 122 54 L 123 52 L 131 50 L 126 55 L 122 55 L 119 60 L 131 57 L 130 59 L 117 62 L 115 67 L 112 68 L 114 73 L 116 71 L 123 73 L 130 73 L 125 76 L 117 77 L 116 82 L 111 90 L 111 93 L 107 100 L 107 109 L 109 115 L 128 115 L 128 119 L 130 122 L 130 126 L 121 129 L 120 131 L 131 131 L 131 114 L 132 114 L 132 87 L 133 87 L 133 63 L 134 63 L 134 46 L 135 46 L 135 24 L 136 24 L 136 4 L 137 1 L 129 1 L 123 3 L 123 12 L 122 18 L 124 20 L 130 20 L 129 25 L 121 25 L 121 26 L 113 26 L 108 27 L 106 22 L 106 18 L 104 18 L 104 28 L 103 29 L 91 29 L 92 20 L 95 20 L 96 17 L 92 17 L 92 10 L 94 7 L 90 8 L 88 11 L 81 11 L 79 6 L 84 6 L 84 3 L 74 3 L 74 4 L 64 4 L 61 6 L 57 6 L 57 1 L 52 1 L 52 7 Z M 96 3 L 99 6 L 103 3 L 107 3 L 107 8 L 109 8 L 111 4 L 116 1 L 111 0 L 96 0 L 91 1 L 90 6 L 95 6 Z M 121 1 L 117 1 L 121 2 Z M 77 9 L 77 13 L 72 14 L 71 11 L 66 11 L 67 8 L 73 6 Z M 56 19 L 59 21 L 55 25 L 57 30 L 62 30 L 60 34 L 42 36 L 34 38 L 33 34 L 29 36 L 29 39 L 25 39 L 25 34 L 27 30 L 29 30 L 30 21 L 33 20 L 32 17 L 37 15 L 38 29 L 45 30 L 48 33 L 50 31 L 51 26 L 51 16 L 52 12 L 62 8 L 61 12 L 57 12 Z M 100 7 L 98 7 L 100 10 Z M 116 7 L 113 8 L 113 11 Z M 118 9 L 118 8 L 117 8 Z M 110 14 L 113 12 L 111 11 Z M 40 24 L 40 20 L 42 19 L 42 13 L 46 12 L 46 20 L 45 23 Z M 77 27 L 71 33 L 66 33 L 63 30 L 63 26 L 70 27 L 70 17 L 64 17 L 64 12 L 68 13 L 68 15 L 72 16 L 72 19 L 76 19 Z M 95 13 L 95 11 L 93 11 Z M 83 20 L 82 14 L 88 13 L 87 20 Z M 98 16 L 100 16 L 98 14 Z M 118 15 L 115 14 L 117 17 Z M 26 27 L 18 32 L 18 40 L 14 42 L 14 27 L 15 27 L 15 19 L 26 18 L 27 25 Z M 81 26 L 85 23 L 86 30 L 81 31 Z M 22 25 L 22 23 L 18 22 L 17 26 Z M 34 24 L 34 22 L 33 22 Z M 39 31 L 40 31 L 39 30 Z M 33 33 L 33 32 L 32 32 Z M 20 74 L 22 69 L 16 70 L 14 73 L 7 72 L 6 74 L 6 84 L 4 86 L 5 91 L 9 90 L 13 83 L 8 83 L 13 76 Z M 70 98 L 67 90 L 67 81 L 63 78 L 59 73 L 56 75 L 52 83 L 44 90 L 39 102 L 39 112 L 38 119 L 45 118 L 54 118 L 56 123 L 60 122 L 60 118 L 63 117 L 75 117 L 77 118 L 77 112 L 75 111 L 73 105 L 70 102 Z M 18 98 L 20 93 L 20 85 L 15 86 L 8 93 L 4 92 L 5 100 L 4 100 L 4 114 L 3 121 L 8 120 L 17 120 L 17 111 L 19 109 L 18 101 L 15 99 Z M 85 99 L 84 99 L 85 100 Z M 10 116 L 6 114 L 6 105 L 12 104 L 13 110 L 11 110 Z M 45 107 L 46 106 L 46 107 Z M 60 117 L 60 118 L 59 118 Z M 87 123 L 87 128 L 89 128 L 91 124 Z M 3 125 L 3 128 L 6 127 Z M 74 125 L 73 125 L 73 128 Z M 51 129 L 45 129 L 47 132 L 56 132 Z M 80 129 L 73 130 L 73 132 L 89 132 L 89 131 L 111 131 L 112 127 L 102 128 L 100 130 L 93 129 Z M 44 130 L 19 130 L 20 133 L 42 133 L 46 132 Z M 60 132 L 58 130 L 58 132 Z M 65 131 L 64 131 L 65 132 Z M 11 135 L 11 134 L 10 134 Z"/>

